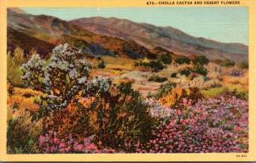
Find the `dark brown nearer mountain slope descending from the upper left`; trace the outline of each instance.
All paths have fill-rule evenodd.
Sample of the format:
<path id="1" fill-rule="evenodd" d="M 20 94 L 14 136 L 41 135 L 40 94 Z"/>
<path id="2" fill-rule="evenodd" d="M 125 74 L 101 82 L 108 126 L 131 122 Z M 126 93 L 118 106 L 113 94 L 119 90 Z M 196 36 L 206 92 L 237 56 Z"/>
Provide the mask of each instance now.
<path id="1" fill-rule="evenodd" d="M 144 48 L 137 42 L 99 35 L 49 15 L 20 14 L 9 9 L 8 28 L 9 36 L 13 36 L 11 31 L 22 34 L 22 37 L 9 37 L 9 44 L 19 42 L 18 39 L 20 42 L 26 42 L 24 37 L 27 36 L 52 45 L 67 42 L 73 48 L 82 48 L 84 53 L 90 55 L 111 55 L 131 59 L 142 59 L 152 55 L 148 48 Z M 27 46 L 24 47 L 24 43 L 17 45 L 20 48 L 27 48 Z M 34 46 L 31 44 L 31 48 Z"/>

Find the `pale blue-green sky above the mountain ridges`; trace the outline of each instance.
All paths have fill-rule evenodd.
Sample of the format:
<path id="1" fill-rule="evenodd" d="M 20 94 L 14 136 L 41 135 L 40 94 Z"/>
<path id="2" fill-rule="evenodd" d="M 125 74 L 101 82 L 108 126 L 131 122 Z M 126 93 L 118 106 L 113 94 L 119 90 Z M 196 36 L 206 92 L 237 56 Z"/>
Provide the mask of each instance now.
<path id="1" fill-rule="evenodd" d="M 116 17 L 157 26 L 172 26 L 194 37 L 248 44 L 248 10 L 242 7 L 201 8 L 21 8 L 61 20 Z"/>

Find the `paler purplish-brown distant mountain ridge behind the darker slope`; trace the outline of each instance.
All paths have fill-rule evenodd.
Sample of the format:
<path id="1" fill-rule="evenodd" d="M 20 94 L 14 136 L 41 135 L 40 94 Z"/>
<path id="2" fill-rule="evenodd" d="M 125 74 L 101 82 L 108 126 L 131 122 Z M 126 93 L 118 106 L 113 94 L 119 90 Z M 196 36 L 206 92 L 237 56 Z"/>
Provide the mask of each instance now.
<path id="1" fill-rule="evenodd" d="M 86 30 L 125 40 L 146 48 L 163 47 L 177 54 L 205 55 L 209 59 L 247 60 L 248 47 L 241 43 L 223 43 L 192 37 L 172 27 L 159 27 L 116 18 L 82 18 L 70 21 Z"/>

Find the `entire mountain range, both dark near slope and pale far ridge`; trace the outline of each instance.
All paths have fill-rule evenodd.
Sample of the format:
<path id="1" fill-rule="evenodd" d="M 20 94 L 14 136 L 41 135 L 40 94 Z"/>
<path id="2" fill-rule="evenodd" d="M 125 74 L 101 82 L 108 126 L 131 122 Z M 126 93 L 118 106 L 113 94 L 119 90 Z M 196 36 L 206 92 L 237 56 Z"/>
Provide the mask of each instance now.
<path id="1" fill-rule="evenodd" d="M 160 27 L 118 18 L 61 20 L 49 15 L 8 9 L 8 48 L 35 48 L 44 57 L 55 45 L 67 42 L 89 55 L 154 59 L 157 54 L 204 55 L 208 59 L 248 59 L 248 47 L 190 36 L 171 26 Z"/>

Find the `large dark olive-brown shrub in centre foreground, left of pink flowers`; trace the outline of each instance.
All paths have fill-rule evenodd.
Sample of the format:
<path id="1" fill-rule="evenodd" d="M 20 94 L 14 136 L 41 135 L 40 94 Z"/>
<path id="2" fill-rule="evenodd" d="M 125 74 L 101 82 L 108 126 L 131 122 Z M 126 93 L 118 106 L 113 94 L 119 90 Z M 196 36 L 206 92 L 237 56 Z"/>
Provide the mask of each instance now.
<path id="1" fill-rule="evenodd" d="M 150 138 L 154 119 L 140 93 L 131 88 L 131 82 L 112 86 L 91 106 L 92 115 L 96 116 L 93 130 L 104 145 L 134 152 L 136 147 L 132 144 Z"/>

